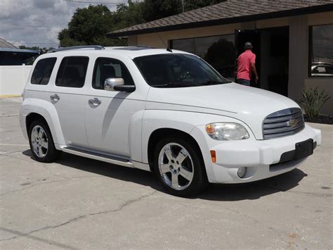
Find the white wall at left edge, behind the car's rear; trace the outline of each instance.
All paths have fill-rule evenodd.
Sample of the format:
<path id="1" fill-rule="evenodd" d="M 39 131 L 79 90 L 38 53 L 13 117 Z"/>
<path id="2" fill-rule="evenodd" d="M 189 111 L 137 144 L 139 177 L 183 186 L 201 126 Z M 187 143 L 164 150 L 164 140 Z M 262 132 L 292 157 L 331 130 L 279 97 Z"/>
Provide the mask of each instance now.
<path id="1" fill-rule="evenodd" d="M 31 65 L 0 66 L 0 96 L 23 92 Z"/>

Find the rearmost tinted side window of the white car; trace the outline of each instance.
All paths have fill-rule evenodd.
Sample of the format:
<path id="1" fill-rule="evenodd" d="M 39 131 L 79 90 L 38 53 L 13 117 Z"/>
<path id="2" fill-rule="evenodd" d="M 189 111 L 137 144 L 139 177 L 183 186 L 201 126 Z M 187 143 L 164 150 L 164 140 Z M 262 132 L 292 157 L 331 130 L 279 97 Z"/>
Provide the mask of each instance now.
<path id="1" fill-rule="evenodd" d="M 32 73 L 32 85 L 47 85 L 57 58 L 45 58 L 37 62 Z"/>

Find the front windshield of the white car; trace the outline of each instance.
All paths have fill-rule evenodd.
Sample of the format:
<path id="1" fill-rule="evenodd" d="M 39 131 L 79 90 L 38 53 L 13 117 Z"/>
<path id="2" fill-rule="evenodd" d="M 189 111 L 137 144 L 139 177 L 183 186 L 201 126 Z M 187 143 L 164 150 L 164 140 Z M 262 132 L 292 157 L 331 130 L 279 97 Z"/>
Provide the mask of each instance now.
<path id="1" fill-rule="evenodd" d="M 188 54 L 141 56 L 133 61 L 152 87 L 196 87 L 229 82 L 201 58 Z"/>

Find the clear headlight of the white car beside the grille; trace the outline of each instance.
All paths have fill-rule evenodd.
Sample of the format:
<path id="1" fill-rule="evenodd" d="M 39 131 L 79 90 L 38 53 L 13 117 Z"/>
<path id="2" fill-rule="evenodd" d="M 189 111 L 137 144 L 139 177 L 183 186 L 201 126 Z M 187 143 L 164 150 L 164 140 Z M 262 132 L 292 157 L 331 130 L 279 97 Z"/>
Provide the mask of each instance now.
<path id="1" fill-rule="evenodd" d="M 206 126 L 207 134 L 218 141 L 247 139 L 249 133 L 238 123 L 211 123 Z"/>

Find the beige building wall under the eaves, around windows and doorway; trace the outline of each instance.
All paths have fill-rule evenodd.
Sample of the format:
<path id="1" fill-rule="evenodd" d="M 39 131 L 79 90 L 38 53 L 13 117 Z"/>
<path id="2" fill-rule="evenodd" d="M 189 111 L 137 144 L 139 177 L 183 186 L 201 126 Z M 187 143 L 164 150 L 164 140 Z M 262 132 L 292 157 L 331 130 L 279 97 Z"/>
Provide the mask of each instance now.
<path id="1" fill-rule="evenodd" d="M 310 25 L 333 23 L 333 12 L 297 15 L 289 18 L 258 20 L 249 23 L 216 25 L 186 30 L 159 32 L 129 37 L 129 45 L 152 46 L 164 48 L 171 39 L 190 37 L 207 37 L 213 35 L 233 34 L 238 29 L 264 29 L 268 27 L 289 26 L 289 97 L 299 99 L 304 88 L 325 89 L 332 96 L 322 108 L 322 113 L 333 115 L 333 79 L 332 77 L 308 77 L 308 30 Z"/>

